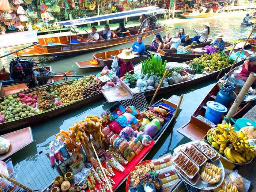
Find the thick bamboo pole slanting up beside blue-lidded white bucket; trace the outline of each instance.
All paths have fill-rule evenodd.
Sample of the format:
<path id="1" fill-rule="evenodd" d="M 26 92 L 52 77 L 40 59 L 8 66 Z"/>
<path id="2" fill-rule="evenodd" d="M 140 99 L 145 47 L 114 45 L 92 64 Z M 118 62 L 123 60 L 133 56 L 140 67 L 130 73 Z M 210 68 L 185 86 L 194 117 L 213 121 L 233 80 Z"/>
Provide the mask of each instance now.
<path id="1" fill-rule="evenodd" d="M 226 119 L 230 119 L 233 117 L 233 115 L 236 113 L 239 105 L 244 99 L 244 96 L 248 92 L 249 88 L 252 86 L 253 82 L 256 80 L 256 74 L 250 73 L 248 79 L 246 80 L 244 86 L 242 87 L 240 93 L 237 95 L 237 98 L 235 99 L 233 105 L 229 109 L 229 112 L 227 113 L 225 119 L 223 119 L 222 123 L 228 123 Z"/>

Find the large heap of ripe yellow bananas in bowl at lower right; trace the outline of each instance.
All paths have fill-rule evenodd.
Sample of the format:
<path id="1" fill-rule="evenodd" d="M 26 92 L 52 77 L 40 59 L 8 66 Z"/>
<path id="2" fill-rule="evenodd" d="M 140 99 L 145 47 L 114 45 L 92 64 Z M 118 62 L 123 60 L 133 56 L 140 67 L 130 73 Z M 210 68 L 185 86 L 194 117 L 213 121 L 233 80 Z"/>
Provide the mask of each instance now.
<path id="1" fill-rule="evenodd" d="M 242 132 L 234 131 L 231 124 L 218 124 L 210 129 L 208 141 L 220 154 L 234 163 L 245 163 L 251 161 L 256 155 L 254 146 L 248 142 L 248 137 Z"/>

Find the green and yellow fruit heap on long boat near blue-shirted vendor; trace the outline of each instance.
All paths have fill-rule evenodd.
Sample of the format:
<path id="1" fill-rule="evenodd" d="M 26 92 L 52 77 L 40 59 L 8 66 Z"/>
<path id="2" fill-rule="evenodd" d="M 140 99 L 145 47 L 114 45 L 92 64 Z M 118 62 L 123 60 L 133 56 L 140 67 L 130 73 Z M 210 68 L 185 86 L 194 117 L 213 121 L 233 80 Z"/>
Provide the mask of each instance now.
<path id="1" fill-rule="evenodd" d="M 218 51 L 212 54 L 203 54 L 201 57 L 193 59 L 189 64 L 196 74 L 202 74 L 203 71 L 213 72 L 221 69 L 227 59 L 227 54 L 223 51 Z M 232 63 L 229 59 L 226 66 Z"/>

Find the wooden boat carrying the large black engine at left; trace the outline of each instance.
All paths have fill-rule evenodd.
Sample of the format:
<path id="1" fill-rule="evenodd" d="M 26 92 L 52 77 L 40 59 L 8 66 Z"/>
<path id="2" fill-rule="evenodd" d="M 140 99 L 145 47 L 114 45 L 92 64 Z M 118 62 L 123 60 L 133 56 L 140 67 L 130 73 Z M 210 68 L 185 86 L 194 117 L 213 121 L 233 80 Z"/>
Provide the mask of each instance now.
<path id="1" fill-rule="evenodd" d="M 52 71 L 52 67 L 51 66 L 47 66 L 45 67 L 47 70 Z M 41 72 L 44 71 L 43 68 L 41 67 L 37 67 L 35 68 L 36 71 Z M 74 75 L 73 71 L 64 71 L 61 72 L 63 74 L 66 75 Z M 10 73 L 9 72 L 5 72 L 5 73 L 0 73 L 0 79 L 4 80 L 5 82 L 13 82 L 14 80 L 10 80 Z M 38 89 L 40 87 L 44 87 L 44 86 L 50 86 L 53 85 L 54 83 L 64 80 L 64 77 L 50 77 L 47 81 L 46 84 L 42 84 L 33 88 L 30 88 L 27 86 L 26 83 L 14 83 L 14 84 L 10 84 L 10 85 L 4 85 L 5 83 L 0 84 L 0 97 L 4 97 L 6 95 L 11 95 L 11 94 L 18 94 L 18 93 L 22 93 L 24 91 L 28 91 L 28 90 L 35 90 Z"/>

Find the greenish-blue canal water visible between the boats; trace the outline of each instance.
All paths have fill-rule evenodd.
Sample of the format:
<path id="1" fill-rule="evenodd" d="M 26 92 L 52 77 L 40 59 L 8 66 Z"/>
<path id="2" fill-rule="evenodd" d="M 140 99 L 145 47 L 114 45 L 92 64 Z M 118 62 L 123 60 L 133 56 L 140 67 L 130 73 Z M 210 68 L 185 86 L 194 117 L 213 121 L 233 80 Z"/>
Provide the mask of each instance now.
<path id="1" fill-rule="evenodd" d="M 202 30 L 202 23 L 205 21 L 209 21 L 211 23 L 210 36 L 214 37 L 218 33 L 222 33 L 225 39 L 237 39 L 237 38 L 246 38 L 251 32 L 252 26 L 249 27 L 240 27 L 240 23 L 244 18 L 246 12 L 233 12 L 229 14 L 224 14 L 221 17 L 217 18 L 207 18 L 207 19 L 182 19 L 176 21 L 175 23 L 168 23 L 170 27 L 176 28 L 184 28 L 186 34 L 189 34 L 191 37 L 196 35 L 192 30 L 193 27 L 196 29 Z M 170 28 L 171 34 L 175 34 L 177 29 Z M 165 33 L 161 33 L 163 36 Z M 255 36 L 253 33 L 252 37 Z M 149 44 L 152 41 L 153 37 L 144 38 L 144 44 Z M 112 48 L 108 48 L 105 50 L 113 50 L 119 48 L 127 48 L 131 47 L 132 43 L 118 45 Z M 95 51 L 99 52 L 99 50 Z M 54 72 L 60 71 L 68 71 L 74 70 L 78 75 L 88 75 L 88 74 L 96 74 L 99 71 L 88 71 L 85 69 L 79 69 L 75 64 L 76 61 L 90 60 L 92 54 L 94 52 L 88 52 L 84 54 L 79 54 L 76 56 L 68 56 L 62 58 L 52 58 L 52 60 L 44 63 L 44 66 L 51 65 Z M 41 58 L 34 58 L 40 60 Z M 184 94 L 184 101 L 180 107 L 180 113 L 173 125 L 171 125 L 163 134 L 163 136 L 159 139 L 158 143 L 154 147 L 148 155 L 146 159 L 152 159 L 159 157 L 163 154 L 172 152 L 173 148 L 176 146 L 188 142 L 189 139 L 182 136 L 177 132 L 177 129 L 182 125 L 189 121 L 191 114 L 194 112 L 196 107 L 205 97 L 207 92 L 212 88 L 216 80 L 207 80 L 206 82 L 202 82 L 199 84 L 195 84 L 190 87 L 182 88 L 178 91 L 173 91 L 171 93 L 167 93 L 164 95 L 158 95 L 155 98 L 155 101 L 158 101 L 161 98 L 168 99 L 173 94 L 180 96 Z M 150 102 L 150 98 L 147 98 L 148 103 Z M 29 146 L 23 148 L 16 154 L 12 155 L 12 161 L 14 164 L 19 163 L 22 165 L 28 159 L 33 157 L 36 153 L 43 150 L 47 147 L 54 139 L 56 133 L 60 131 L 60 129 L 67 130 L 69 126 L 71 126 L 75 121 L 83 120 L 86 115 L 100 115 L 103 110 L 108 109 L 110 107 L 110 103 L 107 103 L 105 99 L 98 100 L 94 103 L 90 103 L 83 108 L 79 108 L 76 110 L 72 110 L 71 112 L 61 115 L 59 117 L 55 117 L 53 119 L 39 122 L 38 124 L 30 125 L 32 128 L 34 142 Z M 122 188 L 124 185 L 122 185 Z M 123 188 L 124 189 L 124 188 Z"/>

